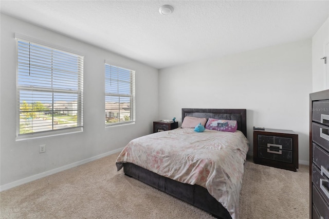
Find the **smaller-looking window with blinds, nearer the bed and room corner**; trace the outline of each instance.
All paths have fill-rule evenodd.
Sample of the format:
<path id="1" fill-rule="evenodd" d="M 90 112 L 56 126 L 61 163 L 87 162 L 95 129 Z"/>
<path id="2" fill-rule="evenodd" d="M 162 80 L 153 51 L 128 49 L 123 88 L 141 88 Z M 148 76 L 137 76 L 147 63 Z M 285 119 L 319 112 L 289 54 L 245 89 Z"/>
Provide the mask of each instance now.
<path id="1" fill-rule="evenodd" d="M 135 71 L 105 64 L 105 125 L 135 121 Z"/>

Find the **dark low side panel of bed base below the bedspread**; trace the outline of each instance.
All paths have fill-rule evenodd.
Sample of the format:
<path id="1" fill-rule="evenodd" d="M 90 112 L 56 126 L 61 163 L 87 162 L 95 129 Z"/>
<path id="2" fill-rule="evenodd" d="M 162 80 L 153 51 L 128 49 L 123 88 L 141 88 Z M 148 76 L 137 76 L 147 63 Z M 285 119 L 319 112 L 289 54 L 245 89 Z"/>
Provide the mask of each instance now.
<path id="1" fill-rule="evenodd" d="M 200 208 L 216 218 L 232 218 L 226 208 L 209 194 L 206 188 L 198 185 L 189 185 L 173 179 L 160 176 L 147 169 L 134 165 L 133 163 L 123 163 L 125 175 L 138 179 L 156 189 L 166 192 L 176 198 Z"/>

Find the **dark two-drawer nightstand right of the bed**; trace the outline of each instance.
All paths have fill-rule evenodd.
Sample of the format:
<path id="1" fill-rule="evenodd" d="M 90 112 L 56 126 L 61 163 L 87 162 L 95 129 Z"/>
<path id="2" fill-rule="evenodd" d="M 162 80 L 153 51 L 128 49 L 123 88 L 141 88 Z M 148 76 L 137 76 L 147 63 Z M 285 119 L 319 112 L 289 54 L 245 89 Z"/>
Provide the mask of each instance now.
<path id="1" fill-rule="evenodd" d="M 253 130 L 253 161 L 260 165 L 296 172 L 298 134 L 291 130 Z"/>

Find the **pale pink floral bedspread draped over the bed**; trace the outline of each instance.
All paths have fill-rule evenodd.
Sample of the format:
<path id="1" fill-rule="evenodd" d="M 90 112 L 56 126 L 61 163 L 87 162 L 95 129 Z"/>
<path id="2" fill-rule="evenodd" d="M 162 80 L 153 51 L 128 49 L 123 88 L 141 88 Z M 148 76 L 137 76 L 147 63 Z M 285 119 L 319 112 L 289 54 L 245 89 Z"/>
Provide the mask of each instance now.
<path id="1" fill-rule="evenodd" d="M 131 162 L 161 176 L 205 187 L 239 218 L 239 195 L 249 141 L 242 132 L 175 129 L 132 140 L 117 158 L 118 171 Z"/>

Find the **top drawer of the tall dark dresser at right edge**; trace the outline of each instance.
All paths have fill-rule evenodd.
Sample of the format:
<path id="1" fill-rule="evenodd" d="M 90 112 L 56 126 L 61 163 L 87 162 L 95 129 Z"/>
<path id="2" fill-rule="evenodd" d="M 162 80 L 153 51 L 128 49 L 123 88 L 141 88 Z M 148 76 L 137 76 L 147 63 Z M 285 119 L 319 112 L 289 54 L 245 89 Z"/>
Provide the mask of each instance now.
<path id="1" fill-rule="evenodd" d="M 312 111 L 313 121 L 329 125 L 329 100 L 313 102 Z"/>

